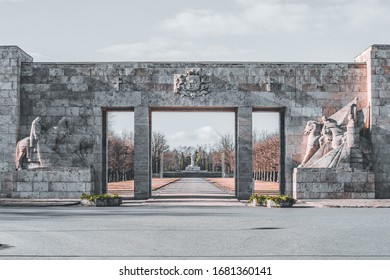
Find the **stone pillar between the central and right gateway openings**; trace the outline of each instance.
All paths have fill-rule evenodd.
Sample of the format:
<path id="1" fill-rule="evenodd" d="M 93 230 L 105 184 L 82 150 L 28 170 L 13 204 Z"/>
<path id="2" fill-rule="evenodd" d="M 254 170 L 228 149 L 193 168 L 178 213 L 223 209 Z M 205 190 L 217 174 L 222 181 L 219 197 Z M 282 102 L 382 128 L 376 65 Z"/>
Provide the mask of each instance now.
<path id="1" fill-rule="evenodd" d="M 239 107 L 236 113 L 236 197 L 248 199 L 253 192 L 252 107 Z"/>

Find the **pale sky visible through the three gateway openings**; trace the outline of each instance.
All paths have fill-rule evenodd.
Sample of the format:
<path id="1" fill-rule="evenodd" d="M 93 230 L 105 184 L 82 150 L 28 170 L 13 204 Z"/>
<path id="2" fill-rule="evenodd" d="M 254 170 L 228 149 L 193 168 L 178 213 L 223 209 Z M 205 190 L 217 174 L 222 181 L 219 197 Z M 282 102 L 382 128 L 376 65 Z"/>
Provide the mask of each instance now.
<path id="1" fill-rule="evenodd" d="M 112 130 L 134 131 L 132 112 L 110 112 Z M 220 136 L 234 136 L 233 112 L 153 112 L 152 131 L 166 136 L 169 146 L 213 145 Z M 279 114 L 273 112 L 253 113 L 253 128 L 258 133 L 279 133 Z"/>

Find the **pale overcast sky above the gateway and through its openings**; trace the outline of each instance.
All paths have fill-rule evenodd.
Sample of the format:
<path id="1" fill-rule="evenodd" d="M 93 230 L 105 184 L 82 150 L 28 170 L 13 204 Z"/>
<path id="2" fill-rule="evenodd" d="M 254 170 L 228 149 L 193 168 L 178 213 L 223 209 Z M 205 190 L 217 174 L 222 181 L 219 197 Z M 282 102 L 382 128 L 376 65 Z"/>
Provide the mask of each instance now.
<path id="1" fill-rule="evenodd" d="M 388 0 L 0 0 L 0 45 L 34 61 L 350 62 L 390 43 L 389 15 Z M 171 141 L 211 138 L 233 122 L 173 118 Z M 267 124 L 277 129 L 277 117 Z"/>

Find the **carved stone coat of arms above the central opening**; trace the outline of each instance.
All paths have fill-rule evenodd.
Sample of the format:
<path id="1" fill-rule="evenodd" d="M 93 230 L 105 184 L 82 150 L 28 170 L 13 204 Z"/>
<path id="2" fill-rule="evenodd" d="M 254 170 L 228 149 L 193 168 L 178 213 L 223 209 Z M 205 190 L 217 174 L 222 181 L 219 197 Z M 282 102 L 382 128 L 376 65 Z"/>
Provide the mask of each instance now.
<path id="1" fill-rule="evenodd" d="M 177 74 L 174 77 L 174 92 L 182 97 L 191 98 L 204 96 L 209 93 L 209 77 L 201 74 L 201 69 L 188 69 L 186 74 Z"/>

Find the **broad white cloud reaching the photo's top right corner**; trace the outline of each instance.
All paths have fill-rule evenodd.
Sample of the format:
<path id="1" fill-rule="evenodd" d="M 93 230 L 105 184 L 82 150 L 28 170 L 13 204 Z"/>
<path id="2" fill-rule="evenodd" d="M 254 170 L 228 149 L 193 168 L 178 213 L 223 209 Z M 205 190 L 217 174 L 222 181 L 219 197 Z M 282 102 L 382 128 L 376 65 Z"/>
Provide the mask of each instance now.
<path id="1" fill-rule="evenodd" d="M 161 28 L 182 38 L 249 34 L 338 32 L 389 23 L 384 0 L 235 0 L 235 11 L 187 9 L 162 22 Z M 275 34 L 277 35 L 277 34 Z M 280 34 L 279 34 L 280 35 Z"/>

